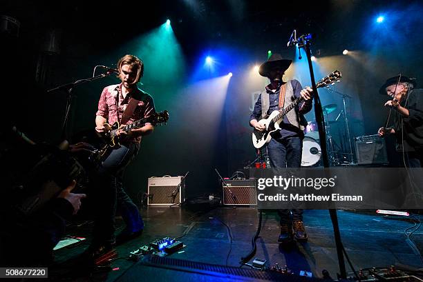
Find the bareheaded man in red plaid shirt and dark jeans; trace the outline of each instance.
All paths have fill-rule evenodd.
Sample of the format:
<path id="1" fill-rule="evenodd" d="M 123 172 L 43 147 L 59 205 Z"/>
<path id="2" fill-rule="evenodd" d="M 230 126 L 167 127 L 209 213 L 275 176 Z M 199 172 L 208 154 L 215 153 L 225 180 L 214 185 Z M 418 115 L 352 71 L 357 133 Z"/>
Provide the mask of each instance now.
<path id="1" fill-rule="evenodd" d="M 131 99 L 138 100 L 131 117 L 124 124 L 133 123 L 155 112 L 153 98 L 138 88 L 142 78 L 144 65 L 137 57 L 127 54 L 118 61 L 118 85 L 104 88 L 95 117 L 95 130 L 99 133 L 106 131 L 105 123 L 112 124 L 121 121 L 126 107 Z M 136 101 L 135 100 L 135 101 Z M 126 113 L 125 113 L 126 114 Z M 122 125 L 121 125 L 122 126 Z M 120 243 L 135 238 L 142 233 L 144 222 L 138 207 L 131 201 L 123 189 L 124 169 L 135 158 L 140 150 L 140 142 L 144 135 L 153 131 L 153 125 L 146 123 L 141 128 L 128 132 L 118 131 L 120 148 L 112 150 L 111 154 L 102 162 L 95 181 L 97 214 L 95 219 L 93 243 L 88 247 L 84 256 L 95 259 L 113 248 L 116 242 Z M 115 236 L 115 213 L 120 210 L 126 228 Z"/>

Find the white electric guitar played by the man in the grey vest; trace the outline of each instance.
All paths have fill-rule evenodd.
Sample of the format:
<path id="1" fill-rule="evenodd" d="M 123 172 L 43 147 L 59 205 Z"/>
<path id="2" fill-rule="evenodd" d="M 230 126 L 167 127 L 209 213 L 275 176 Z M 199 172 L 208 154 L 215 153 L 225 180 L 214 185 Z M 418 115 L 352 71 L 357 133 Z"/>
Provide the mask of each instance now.
<path id="1" fill-rule="evenodd" d="M 335 84 L 335 81 L 339 82 L 339 79 L 341 79 L 341 77 L 341 72 L 339 72 L 339 70 L 335 70 L 335 72 L 332 72 L 327 77 L 323 77 L 323 79 L 319 80 L 316 83 L 316 88 L 321 88 L 328 84 Z M 265 129 L 262 131 L 254 129 L 252 133 L 252 141 L 254 147 L 260 149 L 261 147 L 263 147 L 263 145 L 269 143 L 272 139 L 271 133 L 281 129 L 279 124 L 283 120 L 283 117 L 285 117 L 285 114 L 288 114 L 290 110 L 295 108 L 303 100 L 303 97 L 300 96 L 294 101 L 292 101 L 292 103 L 290 103 L 290 105 L 288 105 L 283 110 L 274 110 L 269 117 L 261 119 L 259 123 L 261 125 L 265 125 Z"/>

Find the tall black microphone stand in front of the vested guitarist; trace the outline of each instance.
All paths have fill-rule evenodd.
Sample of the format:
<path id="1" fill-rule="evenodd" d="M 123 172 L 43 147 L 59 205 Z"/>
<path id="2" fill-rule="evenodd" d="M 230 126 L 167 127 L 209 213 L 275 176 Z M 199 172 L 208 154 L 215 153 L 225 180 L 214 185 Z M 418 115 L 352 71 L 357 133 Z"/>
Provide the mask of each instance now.
<path id="1" fill-rule="evenodd" d="M 293 43 L 298 44 L 298 48 L 304 48 L 306 51 L 307 61 L 308 61 L 308 69 L 310 71 L 310 79 L 312 83 L 312 90 L 314 96 L 314 114 L 316 116 L 317 121 L 317 128 L 319 129 L 319 138 L 321 140 L 321 156 L 323 158 L 323 167 L 329 168 L 329 160 L 328 160 L 328 150 L 326 148 L 326 132 L 324 128 L 324 117 L 323 117 L 323 109 L 321 107 L 321 102 L 319 98 L 319 93 L 317 92 L 316 88 L 316 81 L 314 81 L 314 71 L 312 66 L 311 60 L 311 49 L 310 49 L 310 41 L 312 39 L 311 34 L 304 34 L 299 37 L 299 39 L 294 39 Z M 299 58 L 301 59 L 301 58 Z M 344 250 L 344 246 L 342 245 L 341 241 L 341 233 L 339 232 L 339 225 L 338 225 L 338 216 L 337 210 L 329 209 L 330 219 L 332 219 L 333 225 L 333 232 L 335 235 L 335 245 L 337 247 L 337 256 L 338 256 L 338 263 L 339 263 L 339 277 L 341 279 L 346 279 L 346 267 L 344 261 L 344 254 L 342 250 Z"/>

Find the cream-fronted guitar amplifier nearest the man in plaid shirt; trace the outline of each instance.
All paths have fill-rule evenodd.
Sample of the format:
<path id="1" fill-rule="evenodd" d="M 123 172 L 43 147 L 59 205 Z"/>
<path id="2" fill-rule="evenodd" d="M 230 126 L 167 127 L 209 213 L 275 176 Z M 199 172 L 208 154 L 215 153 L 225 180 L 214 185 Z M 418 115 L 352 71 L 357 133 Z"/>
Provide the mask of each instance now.
<path id="1" fill-rule="evenodd" d="M 147 205 L 182 203 L 185 200 L 185 181 L 183 179 L 184 177 L 150 177 Z"/>

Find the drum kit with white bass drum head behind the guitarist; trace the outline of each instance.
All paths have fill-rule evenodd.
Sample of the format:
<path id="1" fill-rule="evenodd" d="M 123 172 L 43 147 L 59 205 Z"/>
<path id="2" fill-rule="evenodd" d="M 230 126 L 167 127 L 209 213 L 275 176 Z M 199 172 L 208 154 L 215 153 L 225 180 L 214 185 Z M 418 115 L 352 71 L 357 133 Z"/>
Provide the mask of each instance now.
<path id="1" fill-rule="evenodd" d="M 340 138 L 341 145 L 338 145 L 337 142 L 332 137 L 331 132 L 331 125 L 335 125 L 338 123 L 339 117 L 341 114 L 346 112 L 343 110 L 335 119 L 335 121 L 328 120 L 328 114 L 337 110 L 337 104 L 328 104 L 323 106 L 323 114 L 325 115 L 325 131 L 326 131 L 326 144 L 328 148 L 328 158 L 330 166 L 338 166 L 338 165 L 346 165 L 353 162 L 353 153 L 352 150 L 350 152 L 345 152 L 344 148 L 348 148 L 349 143 L 349 130 L 348 130 L 348 119 L 344 114 L 344 118 L 346 121 L 346 136 L 344 138 Z M 309 121 L 308 125 L 306 126 L 306 134 L 303 139 L 303 152 L 301 158 L 301 166 L 302 167 L 312 167 L 321 165 L 321 146 L 320 146 L 320 137 L 319 137 L 319 130 L 317 128 L 316 121 Z M 346 140 L 345 140 L 346 139 Z M 349 143 L 350 144 L 350 143 Z"/>

